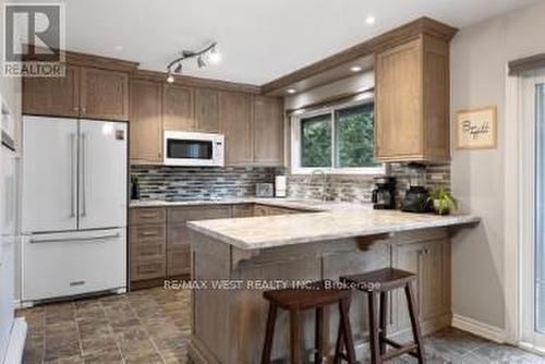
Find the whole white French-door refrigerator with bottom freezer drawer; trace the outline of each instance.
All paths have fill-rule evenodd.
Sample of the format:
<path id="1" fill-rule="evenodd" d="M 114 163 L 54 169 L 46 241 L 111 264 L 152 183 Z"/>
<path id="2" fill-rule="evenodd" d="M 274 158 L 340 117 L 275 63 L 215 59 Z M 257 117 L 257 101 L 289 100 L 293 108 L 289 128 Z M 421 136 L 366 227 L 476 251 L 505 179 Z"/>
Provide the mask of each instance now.
<path id="1" fill-rule="evenodd" d="M 128 125 L 24 117 L 22 301 L 126 290 Z"/>

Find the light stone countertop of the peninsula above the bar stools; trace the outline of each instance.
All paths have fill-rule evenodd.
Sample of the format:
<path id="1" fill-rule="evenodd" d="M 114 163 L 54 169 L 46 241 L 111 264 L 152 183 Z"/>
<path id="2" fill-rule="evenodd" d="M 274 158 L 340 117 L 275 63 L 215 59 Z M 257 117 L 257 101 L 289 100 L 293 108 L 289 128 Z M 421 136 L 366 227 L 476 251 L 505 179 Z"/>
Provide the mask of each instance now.
<path id="1" fill-rule="evenodd" d="M 437 216 L 365 208 L 324 213 L 190 221 L 187 226 L 242 250 L 376 235 L 479 222 L 471 215 Z"/>

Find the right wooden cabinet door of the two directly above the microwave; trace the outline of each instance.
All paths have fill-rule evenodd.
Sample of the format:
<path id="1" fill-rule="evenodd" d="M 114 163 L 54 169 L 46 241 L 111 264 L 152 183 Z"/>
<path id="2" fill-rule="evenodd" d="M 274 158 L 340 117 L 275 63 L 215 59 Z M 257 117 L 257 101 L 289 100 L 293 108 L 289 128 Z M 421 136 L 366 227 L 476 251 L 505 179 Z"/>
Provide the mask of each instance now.
<path id="1" fill-rule="evenodd" d="M 219 132 L 219 92 L 195 89 L 195 123 L 201 132 Z"/>

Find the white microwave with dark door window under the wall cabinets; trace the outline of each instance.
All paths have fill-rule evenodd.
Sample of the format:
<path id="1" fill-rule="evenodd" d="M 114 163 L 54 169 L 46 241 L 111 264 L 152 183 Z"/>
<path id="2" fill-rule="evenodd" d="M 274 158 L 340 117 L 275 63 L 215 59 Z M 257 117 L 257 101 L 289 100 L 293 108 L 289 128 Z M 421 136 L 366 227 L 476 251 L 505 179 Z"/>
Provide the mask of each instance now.
<path id="1" fill-rule="evenodd" d="M 165 166 L 223 167 L 223 134 L 166 131 L 164 142 Z"/>

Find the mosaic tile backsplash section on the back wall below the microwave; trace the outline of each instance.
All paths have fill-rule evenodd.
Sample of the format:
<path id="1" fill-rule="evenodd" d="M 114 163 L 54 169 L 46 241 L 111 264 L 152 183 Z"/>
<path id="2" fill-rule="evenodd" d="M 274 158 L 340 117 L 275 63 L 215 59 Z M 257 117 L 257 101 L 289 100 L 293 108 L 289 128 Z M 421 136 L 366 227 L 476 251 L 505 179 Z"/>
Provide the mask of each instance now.
<path id="1" fill-rule="evenodd" d="M 274 183 L 283 169 L 262 167 L 131 166 L 141 199 L 191 201 L 255 196 L 256 183 Z"/>

